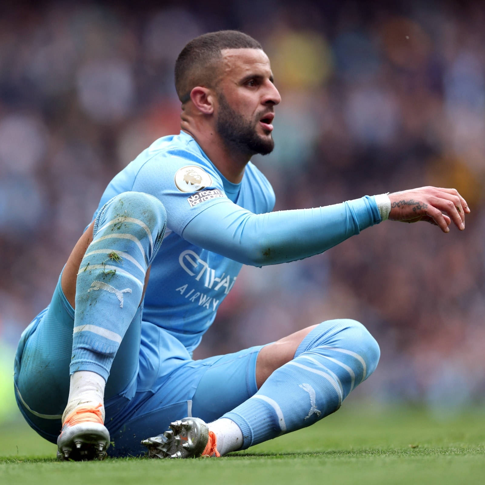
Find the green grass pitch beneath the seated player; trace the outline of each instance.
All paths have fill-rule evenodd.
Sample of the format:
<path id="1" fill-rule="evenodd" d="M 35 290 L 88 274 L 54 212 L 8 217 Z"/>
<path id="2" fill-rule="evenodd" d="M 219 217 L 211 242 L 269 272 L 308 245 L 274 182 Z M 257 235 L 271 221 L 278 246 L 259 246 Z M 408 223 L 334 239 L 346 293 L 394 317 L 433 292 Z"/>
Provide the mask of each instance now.
<path id="1" fill-rule="evenodd" d="M 347 403 L 346 403 L 347 404 Z M 56 462 L 27 425 L 0 426 L 0 484 L 484 484 L 485 409 L 349 403 L 315 426 L 221 459 Z"/>

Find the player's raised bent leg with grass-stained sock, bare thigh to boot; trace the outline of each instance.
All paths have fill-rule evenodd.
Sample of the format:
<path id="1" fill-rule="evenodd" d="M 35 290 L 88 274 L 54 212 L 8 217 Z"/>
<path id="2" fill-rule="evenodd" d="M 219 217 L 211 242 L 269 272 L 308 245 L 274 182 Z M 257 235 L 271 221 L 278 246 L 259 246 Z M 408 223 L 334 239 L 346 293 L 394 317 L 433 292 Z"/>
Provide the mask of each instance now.
<path id="1" fill-rule="evenodd" d="M 103 424 L 105 384 L 120 343 L 141 312 L 147 268 L 165 226 L 165 210 L 158 199 L 136 192 L 117 195 L 97 215 L 92 240 L 88 231 L 66 264 L 63 290 L 75 303 L 75 315 L 58 456 L 72 457 L 72 450 L 82 447 L 89 456 L 80 457 L 91 457 L 93 452 L 104 453 L 109 443 Z M 138 329 L 133 345 L 139 343 Z"/>

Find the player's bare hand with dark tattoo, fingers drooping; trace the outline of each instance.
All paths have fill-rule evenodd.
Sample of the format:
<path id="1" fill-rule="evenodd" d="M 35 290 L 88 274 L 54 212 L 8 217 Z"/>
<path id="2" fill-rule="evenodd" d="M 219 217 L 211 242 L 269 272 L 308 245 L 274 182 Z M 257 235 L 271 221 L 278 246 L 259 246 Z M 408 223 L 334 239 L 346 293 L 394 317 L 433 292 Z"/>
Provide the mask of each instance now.
<path id="1" fill-rule="evenodd" d="M 426 221 L 439 226 L 443 232 L 453 221 L 461 231 L 465 229 L 465 213 L 470 210 L 467 201 L 456 189 L 420 187 L 389 194 L 391 221 L 418 222 Z"/>

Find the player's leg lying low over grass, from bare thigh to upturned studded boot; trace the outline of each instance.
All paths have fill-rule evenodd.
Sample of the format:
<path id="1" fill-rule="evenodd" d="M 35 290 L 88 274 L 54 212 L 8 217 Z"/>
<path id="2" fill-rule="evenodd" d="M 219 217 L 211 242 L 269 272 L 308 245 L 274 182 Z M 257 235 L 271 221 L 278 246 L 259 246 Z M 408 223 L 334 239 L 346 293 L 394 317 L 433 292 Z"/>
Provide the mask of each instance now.
<path id="1" fill-rule="evenodd" d="M 309 426 L 339 409 L 349 392 L 375 370 L 379 355 L 377 342 L 356 321 L 332 320 L 305 329 L 260 351 L 256 378 L 262 385 L 252 397 L 208 426 L 196 419 L 183 421 L 192 430 L 176 423 L 175 434 L 169 433 L 160 446 L 170 456 L 178 456 L 177 451 L 194 456 L 186 445 L 177 447 L 174 438 L 196 441 L 205 426 L 206 449 L 198 453 L 212 454 L 217 441 L 218 451 L 225 454 Z M 214 382 L 208 403 L 216 388 Z"/>

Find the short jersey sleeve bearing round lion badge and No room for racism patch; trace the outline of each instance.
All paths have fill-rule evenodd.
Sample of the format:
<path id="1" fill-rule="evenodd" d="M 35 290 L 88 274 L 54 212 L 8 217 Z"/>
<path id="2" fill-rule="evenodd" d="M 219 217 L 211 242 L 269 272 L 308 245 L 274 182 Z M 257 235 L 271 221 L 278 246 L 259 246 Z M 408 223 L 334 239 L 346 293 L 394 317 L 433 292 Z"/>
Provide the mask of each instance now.
<path id="1" fill-rule="evenodd" d="M 145 162 L 131 190 L 157 197 L 167 211 L 167 227 L 178 235 L 203 210 L 230 202 L 210 163 L 181 149 L 164 151 Z"/>

